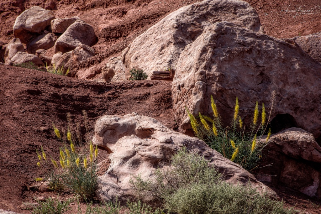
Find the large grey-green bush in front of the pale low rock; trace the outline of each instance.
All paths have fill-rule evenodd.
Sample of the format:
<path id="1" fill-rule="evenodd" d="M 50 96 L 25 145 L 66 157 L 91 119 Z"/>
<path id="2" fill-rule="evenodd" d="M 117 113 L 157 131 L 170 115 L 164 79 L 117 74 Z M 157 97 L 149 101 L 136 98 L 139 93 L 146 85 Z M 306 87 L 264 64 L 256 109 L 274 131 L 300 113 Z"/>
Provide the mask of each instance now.
<path id="1" fill-rule="evenodd" d="M 171 167 L 158 168 L 153 179 L 136 176 L 131 187 L 138 199 L 154 196 L 168 213 L 177 214 L 291 214 L 282 201 L 260 195 L 250 186 L 226 183 L 208 161 L 186 149 L 171 159 Z"/>

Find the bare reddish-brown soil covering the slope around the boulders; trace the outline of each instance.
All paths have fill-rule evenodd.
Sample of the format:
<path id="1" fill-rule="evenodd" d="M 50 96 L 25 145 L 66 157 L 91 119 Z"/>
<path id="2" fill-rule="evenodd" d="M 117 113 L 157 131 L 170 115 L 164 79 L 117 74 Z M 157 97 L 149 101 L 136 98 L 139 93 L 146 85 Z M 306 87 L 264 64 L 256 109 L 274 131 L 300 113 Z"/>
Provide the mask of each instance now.
<path id="1" fill-rule="evenodd" d="M 181 6 L 197 0 L 0 0 L 0 41 L 13 38 L 15 18 L 31 6 L 54 10 L 57 18 L 80 16 L 91 24 L 99 37 L 94 46 L 97 55 L 80 67 L 101 66 L 121 51 L 154 23 Z M 265 32 L 278 38 L 291 38 L 321 31 L 319 0 L 247 0 L 260 15 Z M 289 6 L 290 5 L 290 6 Z M 312 14 L 285 13 L 313 8 Z M 285 14 L 284 14 L 285 13 Z M 99 66 L 100 66 L 99 65 Z M 97 76 L 96 78 L 101 78 Z M 31 202 L 39 195 L 26 186 L 43 171 L 37 166 L 35 150 L 44 147 L 47 155 L 57 157 L 60 142 L 54 137 L 52 123 L 66 129 L 66 114 L 74 123 L 81 123 L 82 110 L 88 113 L 86 139 L 93 135 L 95 121 L 102 115 L 127 114 L 133 111 L 154 117 L 169 128 L 176 129 L 172 115 L 168 81 L 130 81 L 114 84 L 81 81 L 40 71 L 0 65 L 0 209 L 19 213 L 22 202 Z M 40 127 L 47 129 L 41 130 Z M 108 157 L 100 151 L 99 158 Z M 297 205 L 311 213 L 321 213 L 320 201 L 284 187 L 274 190 L 287 206 Z M 64 198 L 70 196 L 64 196 Z"/>

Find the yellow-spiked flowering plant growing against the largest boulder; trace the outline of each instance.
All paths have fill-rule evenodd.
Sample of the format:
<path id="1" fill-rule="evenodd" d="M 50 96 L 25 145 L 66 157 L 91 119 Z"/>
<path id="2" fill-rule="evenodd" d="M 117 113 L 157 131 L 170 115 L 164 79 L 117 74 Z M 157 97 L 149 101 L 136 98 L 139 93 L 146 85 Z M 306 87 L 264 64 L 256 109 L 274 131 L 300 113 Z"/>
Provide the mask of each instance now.
<path id="1" fill-rule="evenodd" d="M 218 113 L 211 95 L 211 106 L 213 118 L 199 113 L 199 120 L 193 116 L 188 109 L 187 114 L 191 121 L 191 126 L 195 136 L 204 140 L 212 149 L 220 152 L 225 158 L 234 161 L 248 171 L 257 168 L 262 158 L 262 150 L 269 143 L 271 129 L 268 130 L 265 142 L 262 142 L 262 136 L 267 131 L 270 122 L 271 113 L 275 103 L 275 92 L 271 98 L 270 114 L 267 118 L 264 103 L 261 108 L 261 123 L 259 123 L 259 107 L 256 101 L 254 116 L 249 131 L 246 131 L 245 125 L 239 116 L 239 100 L 236 98 L 234 116 L 230 127 L 224 127 L 221 116 Z"/>

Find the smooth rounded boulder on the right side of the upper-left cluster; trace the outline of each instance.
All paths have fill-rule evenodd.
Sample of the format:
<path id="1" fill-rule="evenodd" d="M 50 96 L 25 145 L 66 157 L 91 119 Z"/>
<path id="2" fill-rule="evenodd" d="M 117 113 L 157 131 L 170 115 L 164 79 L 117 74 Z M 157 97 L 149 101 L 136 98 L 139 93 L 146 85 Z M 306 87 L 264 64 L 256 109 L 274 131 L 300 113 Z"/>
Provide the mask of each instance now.
<path id="1" fill-rule="evenodd" d="M 57 39 L 55 53 L 60 51 L 64 54 L 78 47 L 78 43 L 91 46 L 96 41 L 97 37 L 91 25 L 77 20 Z"/>

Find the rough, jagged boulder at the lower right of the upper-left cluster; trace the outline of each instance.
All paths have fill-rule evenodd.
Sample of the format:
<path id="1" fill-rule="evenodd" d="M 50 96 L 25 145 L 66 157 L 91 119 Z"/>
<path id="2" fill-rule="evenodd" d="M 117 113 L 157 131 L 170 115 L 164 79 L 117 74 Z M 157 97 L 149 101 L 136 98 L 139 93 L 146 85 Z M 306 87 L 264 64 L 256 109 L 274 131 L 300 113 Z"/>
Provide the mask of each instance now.
<path id="1" fill-rule="evenodd" d="M 86 61 L 92 56 L 95 56 L 95 50 L 82 43 L 78 44 L 74 50 L 67 53 L 58 52 L 52 56 L 51 64 L 55 64 L 56 67 L 64 66 L 65 70 L 70 69 L 70 76 L 74 77 L 77 73 L 77 66 L 80 62 Z"/>

